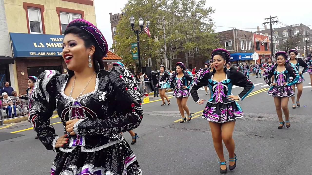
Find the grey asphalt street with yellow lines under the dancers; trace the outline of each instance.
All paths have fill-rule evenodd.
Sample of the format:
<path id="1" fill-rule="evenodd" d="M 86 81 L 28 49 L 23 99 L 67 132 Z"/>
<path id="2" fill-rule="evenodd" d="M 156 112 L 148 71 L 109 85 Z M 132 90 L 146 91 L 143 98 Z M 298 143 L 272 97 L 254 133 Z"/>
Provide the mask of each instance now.
<path id="1" fill-rule="evenodd" d="M 312 174 L 312 92 L 310 77 L 306 81 L 300 99 L 301 107 L 291 108 L 291 127 L 277 129 L 278 118 L 273 97 L 266 95 L 263 78 L 251 76 L 254 90 L 241 105 L 245 117 L 236 121 L 237 167 L 227 174 L 235 175 L 293 175 Z M 239 94 L 241 87 L 234 87 Z M 204 89 L 198 91 L 202 99 L 208 99 Z M 220 174 L 217 154 L 214 150 L 208 122 L 200 118 L 204 105 L 197 105 L 192 98 L 188 107 L 195 118 L 180 124 L 181 116 L 172 93 L 171 104 L 160 106 L 161 101 L 150 98 L 143 104 L 144 118 L 135 132 L 139 134 L 136 144 L 131 145 L 144 175 L 210 175 Z M 171 96 L 170 96 L 171 95 Z M 154 101 L 154 102 L 153 102 Z M 56 133 L 62 135 L 60 120 L 51 118 Z M 56 153 L 46 150 L 36 133 L 29 129 L 27 121 L 0 126 L 0 174 L 1 175 L 46 175 Z M 13 133 L 11 133 L 13 132 Z M 131 137 L 123 134 L 128 142 Z M 14 138 L 15 137 L 15 138 Z M 6 138 L 12 138 L 7 139 Z M 228 164 L 228 153 L 224 146 Z"/>

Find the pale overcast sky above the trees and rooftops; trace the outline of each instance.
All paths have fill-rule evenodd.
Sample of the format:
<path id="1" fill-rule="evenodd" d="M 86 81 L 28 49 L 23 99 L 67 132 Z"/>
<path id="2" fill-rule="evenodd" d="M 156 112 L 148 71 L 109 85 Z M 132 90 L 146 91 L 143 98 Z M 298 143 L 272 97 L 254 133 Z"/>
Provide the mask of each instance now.
<path id="1" fill-rule="evenodd" d="M 113 40 L 109 13 L 120 13 L 128 0 L 94 1 L 97 26 L 107 40 L 108 46 L 111 47 Z M 311 0 L 291 1 L 291 5 L 288 0 L 224 0 L 222 2 L 207 0 L 206 7 L 209 6 L 212 6 L 216 10 L 212 15 L 216 26 L 231 27 L 217 27 L 217 32 L 230 30 L 233 27 L 246 31 L 256 31 L 257 26 L 264 29 L 262 26 L 264 18 L 268 18 L 270 15 L 272 17 L 277 16 L 279 21 L 285 25 L 302 23 L 304 25 L 311 25 L 309 27 L 312 28 Z M 273 28 L 278 26 L 282 26 L 282 24 L 274 25 Z M 239 27 L 253 29 L 242 29 Z"/>

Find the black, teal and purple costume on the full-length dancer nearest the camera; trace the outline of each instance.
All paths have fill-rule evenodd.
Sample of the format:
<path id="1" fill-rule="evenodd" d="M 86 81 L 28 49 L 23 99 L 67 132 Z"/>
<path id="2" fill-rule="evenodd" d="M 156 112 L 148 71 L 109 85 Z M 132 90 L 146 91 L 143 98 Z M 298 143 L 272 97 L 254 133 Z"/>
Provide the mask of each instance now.
<path id="1" fill-rule="evenodd" d="M 213 80 L 213 71 L 209 72 L 207 68 L 200 69 L 190 87 L 190 92 L 196 103 L 200 101 L 197 90 L 207 85 L 209 86 L 211 98 L 204 108 L 202 118 L 222 124 L 235 121 L 244 116 L 241 106 L 237 102 L 227 99 L 227 96 L 231 95 L 234 85 L 244 87 L 244 90 L 238 95 L 240 100 L 247 97 L 254 88 L 253 83 L 243 73 L 231 68 L 226 71 L 226 79 L 218 82 Z"/>

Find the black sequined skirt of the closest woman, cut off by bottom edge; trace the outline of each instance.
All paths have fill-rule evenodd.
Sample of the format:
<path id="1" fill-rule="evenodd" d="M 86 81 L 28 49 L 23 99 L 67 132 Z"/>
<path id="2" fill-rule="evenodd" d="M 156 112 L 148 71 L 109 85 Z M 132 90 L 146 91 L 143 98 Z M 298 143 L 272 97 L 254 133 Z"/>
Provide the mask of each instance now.
<path id="1" fill-rule="evenodd" d="M 129 144 L 120 143 L 94 152 L 58 152 L 51 167 L 51 175 L 142 175 L 137 158 Z"/>

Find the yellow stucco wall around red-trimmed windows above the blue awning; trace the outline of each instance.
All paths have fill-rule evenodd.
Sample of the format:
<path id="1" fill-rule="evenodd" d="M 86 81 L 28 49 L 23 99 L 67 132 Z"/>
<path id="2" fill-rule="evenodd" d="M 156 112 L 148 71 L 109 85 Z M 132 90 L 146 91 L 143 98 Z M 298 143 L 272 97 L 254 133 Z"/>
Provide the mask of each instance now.
<path id="1" fill-rule="evenodd" d="M 56 7 L 84 11 L 84 19 L 96 25 L 94 3 L 93 6 L 90 6 L 62 0 L 4 0 L 9 32 L 28 33 L 23 2 L 41 4 L 44 6 L 43 18 L 46 34 L 60 35 L 60 25 Z"/>

